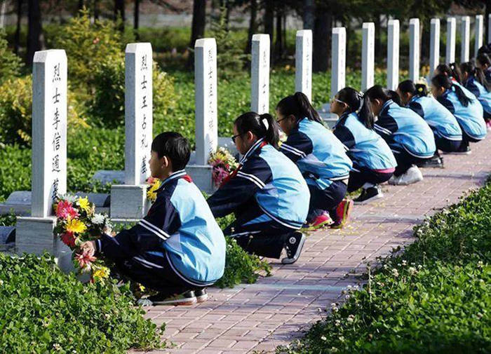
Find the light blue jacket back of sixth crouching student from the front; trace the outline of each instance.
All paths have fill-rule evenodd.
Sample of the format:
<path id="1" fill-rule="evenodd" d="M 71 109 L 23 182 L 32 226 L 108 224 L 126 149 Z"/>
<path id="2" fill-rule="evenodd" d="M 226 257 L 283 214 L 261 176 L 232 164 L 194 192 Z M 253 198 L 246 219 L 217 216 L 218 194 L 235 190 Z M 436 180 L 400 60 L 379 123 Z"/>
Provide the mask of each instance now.
<path id="1" fill-rule="evenodd" d="M 457 119 L 435 98 L 415 95 L 408 103 L 408 107 L 424 118 L 439 137 L 462 140 L 462 130 Z"/>

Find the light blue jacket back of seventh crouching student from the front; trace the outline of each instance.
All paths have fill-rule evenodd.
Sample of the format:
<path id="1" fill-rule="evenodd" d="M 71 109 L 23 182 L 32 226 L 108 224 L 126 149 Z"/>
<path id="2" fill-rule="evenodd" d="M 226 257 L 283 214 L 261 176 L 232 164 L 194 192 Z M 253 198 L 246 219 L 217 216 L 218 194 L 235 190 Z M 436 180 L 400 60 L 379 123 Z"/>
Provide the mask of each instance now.
<path id="1" fill-rule="evenodd" d="M 453 87 L 445 90 L 445 93 L 438 97 L 438 102 L 443 104 L 446 109 L 454 114 L 462 130 L 464 130 L 469 137 L 483 139 L 487 132 L 483 118 L 483 106 L 469 90 L 462 91 L 470 99 L 467 106 L 464 106 L 464 104 L 459 101 L 457 93 L 455 93 L 455 88 Z"/>

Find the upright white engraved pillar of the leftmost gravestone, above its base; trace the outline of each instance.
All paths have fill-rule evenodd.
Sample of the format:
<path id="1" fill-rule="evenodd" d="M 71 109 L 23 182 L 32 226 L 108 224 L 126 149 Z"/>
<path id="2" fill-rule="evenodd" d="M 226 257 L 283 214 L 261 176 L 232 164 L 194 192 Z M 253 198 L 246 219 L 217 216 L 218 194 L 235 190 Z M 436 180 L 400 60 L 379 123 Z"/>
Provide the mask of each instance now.
<path id="1" fill-rule="evenodd" d="M 32 76 L 32 216 L 48 217 L 67 191 L 67 55 L 34 55 Z"/>

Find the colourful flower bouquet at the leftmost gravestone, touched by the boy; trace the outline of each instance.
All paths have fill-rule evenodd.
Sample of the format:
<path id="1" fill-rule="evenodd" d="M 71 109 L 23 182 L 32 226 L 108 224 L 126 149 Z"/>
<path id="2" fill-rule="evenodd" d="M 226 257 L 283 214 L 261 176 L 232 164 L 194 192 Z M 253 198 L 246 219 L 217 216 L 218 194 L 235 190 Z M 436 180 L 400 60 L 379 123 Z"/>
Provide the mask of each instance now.
<path id="1" fill-rule="evenodd" d="M 107 215 L 96 214 L 95 205 L 88 198 L 59 196 L 53 204 L 56 215 L 55 235 L 74 252 L 74 265 L 79 273 L 91 273 L 91 281 L 109 276 L 109 268 L 102 259 L 96 259 L 80 249 L 88 240 L 96 240 L 111 229 Z"/>

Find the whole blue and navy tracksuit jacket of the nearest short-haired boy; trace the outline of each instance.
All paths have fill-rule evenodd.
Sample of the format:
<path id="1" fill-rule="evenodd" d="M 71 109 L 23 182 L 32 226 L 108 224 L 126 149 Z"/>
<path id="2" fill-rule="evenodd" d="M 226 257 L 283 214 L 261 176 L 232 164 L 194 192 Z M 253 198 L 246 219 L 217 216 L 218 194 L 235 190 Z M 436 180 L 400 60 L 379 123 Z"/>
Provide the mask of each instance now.
<path id="1" fill-rule="evenodd" d="M 148 268 L 163 268 L 164 258 L 184 282 L 197 287 L 220 279 L 225 238 L 205 198 L 184 170 L 174 172 L 156 191 L 146 217 L 114 238 L 97 240 L 98 252 L 123 252 Z"/>

